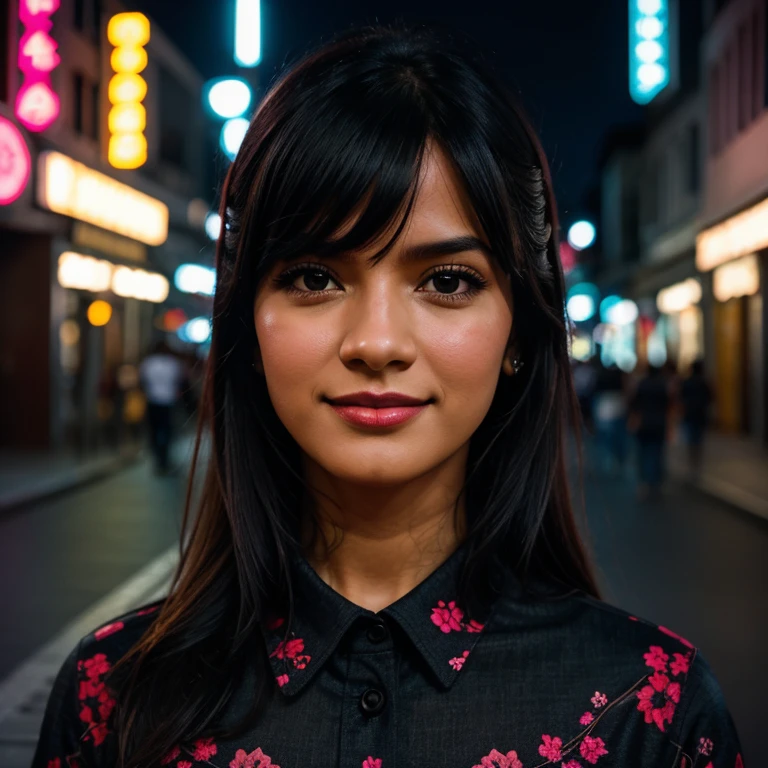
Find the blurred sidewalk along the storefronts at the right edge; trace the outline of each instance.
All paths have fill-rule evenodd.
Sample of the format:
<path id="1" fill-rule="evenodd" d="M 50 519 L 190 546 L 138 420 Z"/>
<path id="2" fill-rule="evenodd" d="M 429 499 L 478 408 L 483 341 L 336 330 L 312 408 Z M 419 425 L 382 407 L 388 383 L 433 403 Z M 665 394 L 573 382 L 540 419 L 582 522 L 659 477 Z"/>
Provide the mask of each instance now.
<path id="1" fill-rule="evenodd" d="M 754 440 L 712 432 L 698 476 L 688 472 L 685 445 L 669 447 L 669 471 L 678 480 L 768 520 L 768 450 Z"/>

